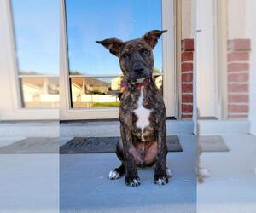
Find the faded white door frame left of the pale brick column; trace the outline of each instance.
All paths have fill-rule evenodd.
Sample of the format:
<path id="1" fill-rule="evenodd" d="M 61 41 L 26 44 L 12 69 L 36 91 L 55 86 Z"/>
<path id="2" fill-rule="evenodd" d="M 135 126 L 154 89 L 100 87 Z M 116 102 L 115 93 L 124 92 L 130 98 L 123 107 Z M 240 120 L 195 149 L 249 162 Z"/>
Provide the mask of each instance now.
<path id="1" fill-rule="evenodd" d="M 202 0 L 204 2 L 204 0 Z M 212 16 L 211 14 L 200 14 L 203 5 L 197 3 L 197 42 L 196 42 L 196 68 L 197 68 L 197 107 L 201 117 L 218 118 L 218 28 L 217 28 L 217 0 L 212 0 Z M 208 3 L 210 7 L 210 4 Z M 212 25 L 199 21 L 212 21 Z M 205 27 L 204 29 L 201 27 Z M 207 39 L 207 36 L 201 37 L 204 32 L 212 32 L 212 45 L 201 46 L 201 39 Z M 211 36 L 211 35 L 210 35 Z M 201 53 L 201 49 L 208 52 Z M 209 51 L 212 51 L 209 52 Z M 212 54 L 212 55 L 210 55 Z M 207 57 L 204 59 L 204 56 Z M 207 68 L 206 68 L 207 67 Z"/>

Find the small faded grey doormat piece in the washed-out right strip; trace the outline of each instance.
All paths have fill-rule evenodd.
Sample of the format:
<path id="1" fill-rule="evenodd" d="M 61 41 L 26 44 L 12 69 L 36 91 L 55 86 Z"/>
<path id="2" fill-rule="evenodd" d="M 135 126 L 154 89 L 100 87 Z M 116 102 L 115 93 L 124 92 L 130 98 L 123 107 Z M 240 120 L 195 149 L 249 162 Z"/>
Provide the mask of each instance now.
<path id="1" fill-rule="evenodd" d="M 201 145 L 202 152 L 229 152 L 230 149 L 224 143 L 221 136 L 200 136 L 199 144 Z"/>

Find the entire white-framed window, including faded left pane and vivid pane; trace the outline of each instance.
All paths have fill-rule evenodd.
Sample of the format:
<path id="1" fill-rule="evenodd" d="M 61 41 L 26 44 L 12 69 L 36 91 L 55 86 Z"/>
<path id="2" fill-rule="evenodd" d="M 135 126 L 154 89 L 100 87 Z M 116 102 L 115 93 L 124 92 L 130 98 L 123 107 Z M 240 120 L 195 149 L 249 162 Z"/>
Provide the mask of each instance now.
<path id="1" fill-rule="evenodd" d="M 160 28 L 154 80 L 176 116 L 173 1 L 0 1 L 1 118 L 118 118 L 119 61 L 95 41 Z"/>

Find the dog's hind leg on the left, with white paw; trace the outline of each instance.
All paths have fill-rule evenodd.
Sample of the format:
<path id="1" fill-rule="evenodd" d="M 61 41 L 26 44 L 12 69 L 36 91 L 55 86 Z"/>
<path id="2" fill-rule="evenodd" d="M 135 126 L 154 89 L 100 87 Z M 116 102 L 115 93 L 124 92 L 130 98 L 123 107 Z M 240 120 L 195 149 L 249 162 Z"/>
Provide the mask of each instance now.
<path id="1" fill-rule="evenodd" d="M 123 150 L 123 144 L 121 140 L 119 140 L 119 142 L 116 145 L 116 155 L 118 156 L 122 164 L 118 168 L 115 168 L 109 172 L 108 177 L 110 180 L 115 180 L 125 175 L 124 150 Z"/>

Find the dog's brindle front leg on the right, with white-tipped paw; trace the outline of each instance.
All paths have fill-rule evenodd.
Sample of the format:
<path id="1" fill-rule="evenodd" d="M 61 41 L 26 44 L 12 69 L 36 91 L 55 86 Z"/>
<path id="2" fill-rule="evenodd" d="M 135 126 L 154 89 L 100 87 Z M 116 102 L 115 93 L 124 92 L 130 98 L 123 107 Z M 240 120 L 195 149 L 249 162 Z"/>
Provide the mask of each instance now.
<path id="1" fill-rule="evenodd" d="M 157 132 L 157 156 L 154 169 L 154 183 L 165 185 L 168 183 L 168 174 L 166 172 L 166 122 L 160 124 Z"/>

